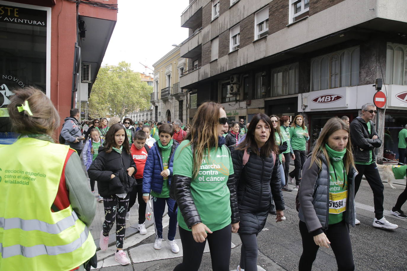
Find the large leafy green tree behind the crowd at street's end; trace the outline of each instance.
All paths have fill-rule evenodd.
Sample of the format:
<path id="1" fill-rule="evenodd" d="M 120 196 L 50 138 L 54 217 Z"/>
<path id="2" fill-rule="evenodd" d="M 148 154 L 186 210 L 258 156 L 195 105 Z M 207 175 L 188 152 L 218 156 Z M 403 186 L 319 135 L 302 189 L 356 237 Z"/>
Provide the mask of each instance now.
<path id="1" fill-rule="evenodd" d="M 99 69 L 90 93 L 90 115 L 115 115 L 123 119 L 137 109 L 149 108 L 151 92 L 153 87 L 141 82 L 140 73 L 133 72 L 130 63 L 105 65 Z"/>

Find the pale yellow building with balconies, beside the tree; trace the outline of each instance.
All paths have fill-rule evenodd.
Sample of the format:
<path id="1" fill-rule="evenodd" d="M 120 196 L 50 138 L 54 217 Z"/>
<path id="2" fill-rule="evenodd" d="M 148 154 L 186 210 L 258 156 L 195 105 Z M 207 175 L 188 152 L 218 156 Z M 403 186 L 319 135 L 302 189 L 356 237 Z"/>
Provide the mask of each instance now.
<path id="1" fill-rule="evenodd" d="M 180 119 L 187 121 L 187 94 L 179 85 L 179 76 L 187 69 L 186 59 L 180 57 L 175 47 L 153 64 L 154 79 L 151 104 L 153 120 L 167 122 Z"/>

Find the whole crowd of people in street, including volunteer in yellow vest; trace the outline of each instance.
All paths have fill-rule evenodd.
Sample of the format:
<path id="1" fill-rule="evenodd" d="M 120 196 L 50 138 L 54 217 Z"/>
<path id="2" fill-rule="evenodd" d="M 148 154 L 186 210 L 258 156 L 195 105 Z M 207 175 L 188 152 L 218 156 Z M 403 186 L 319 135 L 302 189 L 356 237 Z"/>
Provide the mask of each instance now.
<path id="1" fill-rule="evenodd" d="M 383 217 L 383 184 L 374 162 L 374 149 L 382 144 L 372 122 L 376 107 L 365 104 L 361 109 L 361 117 L 351 123 L 345 116 L 329 119 L 308 156 L 310 137 L 302 115 L 291 121 L 289 116 L 259 113 L 246 125 L 244 119 L 228 124 L 224 108 L 216 102 L 202 103 L 186 126 L 179 120 L 133 123 L 118 117 L 81 124 L 74 108 L 59 137 L 64 144 L 55 144 L 52 136 L 59 116 L 52 102 L 34 88 L 16 91 L 8 112 L 20 136 L 11 145 L 0 145 L 0 164 L 20 177 L 13 185 L 0 182 L 0 219 L 2 225 L 10 225 L 0 228 L 0 267 L 96 267 L 96 247 L 88 230 L 96 197 L 105 210 L 99 245 L 107 249 L 116 223 L 114 259 L 122 265 L 130 263 L 123 243 L 126 221 L 137 200 L 140 234 L 147 234 L 145 214 L 152 204 L 154 249 L 162 248 L 162 216 L 167 206 L 166 242 L 178 253 L 178 230 L 183 247 L 182 262 L 174 270 L 199 270 L 207 241 L 212 270 L 229 270 L 231 234 L 237 233 L 242 242 L 237 271 L 254 271 L 257 236 L 268 215 L 275 214 L 276 222 L 286 220 L 282 191 L 298 190 L 303 247 L 298 269 L 311 270 L 319 247 L 331 247 L 338 270 L 354 270 L 349 227 L 360 223 L 355 196 L 362 176 L 373 192 L 372 225 L 398 227 Z M 90 189 L 85 172 L 78 170 L 80 155 Z M 291 160 L 294 170 L 290 172 Z M 29 177 L 33 173 L 37 181 Z M 401 210 L 403 193 L 392 214 L 407 218 Z M 11 197 L 35 204 L 18 208 L 15 201 L 3 200 Z M 26 222 L 8 221 L 15 218 Z M 16 245 L 22 249 L 13 249 Z M 50 245 L 60 248 L 45 249 Z"/>

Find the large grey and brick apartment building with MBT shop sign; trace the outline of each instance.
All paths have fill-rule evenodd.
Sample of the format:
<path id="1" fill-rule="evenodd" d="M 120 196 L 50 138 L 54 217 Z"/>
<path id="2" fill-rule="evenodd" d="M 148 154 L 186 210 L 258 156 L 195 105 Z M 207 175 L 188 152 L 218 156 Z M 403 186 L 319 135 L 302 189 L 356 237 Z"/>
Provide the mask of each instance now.
<path id="1" fill-rule="evenodd" d="M 379 129 L 389 135 L 385 153 L 397 153 L 407 124 L 407 9 L 397 1 L 191 0 L 181 26 L 191 36 L 180 55 L 195 69 L 180 84 L 197 106 L 219 101 L 230 120 L 246 122 L 302 114 L 312 145 L 328 118 L 352 121 L 373 102 L 382 78 Z"/>

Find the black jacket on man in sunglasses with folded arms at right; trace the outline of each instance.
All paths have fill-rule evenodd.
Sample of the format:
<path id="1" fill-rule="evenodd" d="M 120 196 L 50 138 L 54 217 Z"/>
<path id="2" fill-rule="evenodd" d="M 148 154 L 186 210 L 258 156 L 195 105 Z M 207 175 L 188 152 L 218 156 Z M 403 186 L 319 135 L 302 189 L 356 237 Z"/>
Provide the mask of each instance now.
<path id="1" fill-rule="evenodd" d="M 355 161 L 369 162 L 369 154 L 372 152 L 372 159 L 376 158 L 374 155 L 374 148 L 381 146 L 381 139 L 372 139 L 377 135 L 375 124 L 370 121 L 371 133 L 368 132 L 368 124 L 361 117 L 357 117 L 350 123 L 350 141 L 352 142 L 352 151 Z"/>

